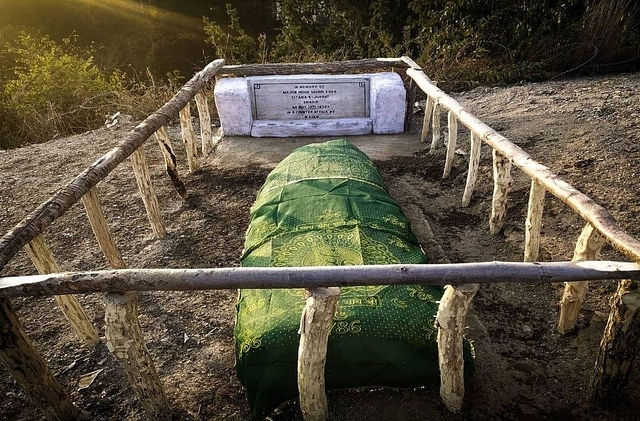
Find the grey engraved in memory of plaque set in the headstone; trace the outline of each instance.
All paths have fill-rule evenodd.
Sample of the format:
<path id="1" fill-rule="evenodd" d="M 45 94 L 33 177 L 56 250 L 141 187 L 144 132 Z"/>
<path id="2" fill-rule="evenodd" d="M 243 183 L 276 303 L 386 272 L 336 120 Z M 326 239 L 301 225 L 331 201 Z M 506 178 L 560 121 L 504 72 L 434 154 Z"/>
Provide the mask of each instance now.
<path id="1" fill-rule="evenodd" d="M 255 120 L 369 117 L 369 79 L 256 78 L 249 83 Z"/>

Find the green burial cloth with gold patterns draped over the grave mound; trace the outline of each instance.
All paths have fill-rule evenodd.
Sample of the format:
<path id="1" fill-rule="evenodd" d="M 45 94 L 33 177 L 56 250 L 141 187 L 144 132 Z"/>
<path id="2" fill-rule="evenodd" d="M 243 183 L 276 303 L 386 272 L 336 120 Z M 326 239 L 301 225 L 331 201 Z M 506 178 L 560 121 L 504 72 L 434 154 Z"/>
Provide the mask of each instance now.
<path id="1" fill-rule="evenodd" d="M 269 174 L 251 208 L 242 266 L 399 263 L 427 257 L 373 162 L 346 140 L 296 149 Z M 441 296 L 433 286 L 342 288 L 326 387 L 437 385 Z M 297 397 L 304 305 L 303 289 L 240 291 L 236 369 L 257 418 Z"/>

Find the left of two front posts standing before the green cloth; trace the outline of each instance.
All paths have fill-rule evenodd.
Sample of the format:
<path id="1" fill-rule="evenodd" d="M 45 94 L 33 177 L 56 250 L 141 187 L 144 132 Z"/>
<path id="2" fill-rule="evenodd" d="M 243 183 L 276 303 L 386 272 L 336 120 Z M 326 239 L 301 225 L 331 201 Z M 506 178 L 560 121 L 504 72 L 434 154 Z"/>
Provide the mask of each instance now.
<path id="1" fill-rule="evenodd" d="M 324 390 L 324 366 L 331 321 L 340 288 L 313 288 L 300 319 L 298 347 L 298 393 L 305 421 L 323 421 L 329 416 Z"/>

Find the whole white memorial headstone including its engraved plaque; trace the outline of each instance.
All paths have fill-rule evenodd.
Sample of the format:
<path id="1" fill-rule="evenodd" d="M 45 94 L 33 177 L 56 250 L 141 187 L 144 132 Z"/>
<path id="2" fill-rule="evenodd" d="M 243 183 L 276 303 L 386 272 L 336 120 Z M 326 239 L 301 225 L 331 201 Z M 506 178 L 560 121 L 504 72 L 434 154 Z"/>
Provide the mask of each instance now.
<path id="1" fill-rule="evenodd" d="M 214 97 L 226 136 L 396 134 L 406 91 L 397 73 L 223 78 Z"/>

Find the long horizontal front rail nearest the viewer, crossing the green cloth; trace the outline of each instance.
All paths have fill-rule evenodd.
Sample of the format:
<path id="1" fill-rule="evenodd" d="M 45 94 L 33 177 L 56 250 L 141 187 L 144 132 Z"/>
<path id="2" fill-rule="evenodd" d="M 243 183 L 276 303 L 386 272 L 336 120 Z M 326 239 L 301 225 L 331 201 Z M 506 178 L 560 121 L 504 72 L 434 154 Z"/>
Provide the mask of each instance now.
<path id="1" fill-rule="evenodd" d="M 116 291 L 465 285 L 640 279 L 640 264 L 611 261 L 482 262 L 211 269 L 122 269 L 0 278 L 0 297 Z"/>

